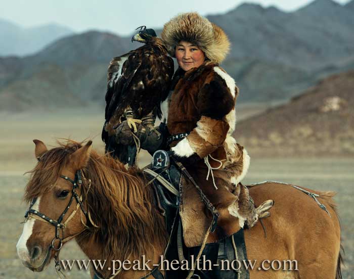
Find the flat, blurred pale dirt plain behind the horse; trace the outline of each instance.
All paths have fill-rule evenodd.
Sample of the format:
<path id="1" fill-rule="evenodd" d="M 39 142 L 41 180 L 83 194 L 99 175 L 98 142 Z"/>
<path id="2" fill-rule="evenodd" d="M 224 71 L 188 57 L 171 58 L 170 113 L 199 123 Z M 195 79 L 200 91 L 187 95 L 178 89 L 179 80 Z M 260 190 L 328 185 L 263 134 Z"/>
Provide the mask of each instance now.
<path id="1" fill-rule="evenodd" d="M 247 115 L 250 108 L 244 111 Z M 254 109 L 256 112 L 257 109 Z M 254 113 L 253 112 L 253 113 Z M 242 110 L 241 110 L 242 114 Z M 241 115 L 238 117 L 242 118 Z M 25 268 L 16 252 L 16 243 L 22 233 L 23 215 L 27 205 L 22 196 L 28 175 L 25 171 L 34 167 L 34 144 L 37 138 L 48 146 L 55 146 L 56 138 L 72 138 L 76 141 L 93 139 L 94 148 L 103 151 L 101 127 L 102 110 L 91 108 L 77 111 L 35 112 L 17 115 L 0 114 L 0 278 L 58 278 L 51 263 L 48 269 L 34 273 Z M 242 144 L 242 143 L 241 143 Z M 343 278 L 354 278 L 354 224 L 352 197 L 354 194 L 354 159 L 351 158 L 261 158 L 252 154 L 251 165 L 245 183 L 276 180 L 303 187 L 338 194 L 342 226 L 342 240 L 345 250 Z M 148 164 L 149 156 L 141 157 L 142 166 Z M 273 216 L 276 218 L 276 216 Z M 306 216 L 304 216 L 306 218 Z M 305 240 L 304 240 L 305 241 Z M 62 259 L 85 259 L 74 242 L 68 243 L 61 252 Z M 66 272 L 69 278 L 89 278 L 86 271 Z M 307 279 L 307 278 L 306 278 Z M 308 278 L 311 279 L 311 278 Z"/>

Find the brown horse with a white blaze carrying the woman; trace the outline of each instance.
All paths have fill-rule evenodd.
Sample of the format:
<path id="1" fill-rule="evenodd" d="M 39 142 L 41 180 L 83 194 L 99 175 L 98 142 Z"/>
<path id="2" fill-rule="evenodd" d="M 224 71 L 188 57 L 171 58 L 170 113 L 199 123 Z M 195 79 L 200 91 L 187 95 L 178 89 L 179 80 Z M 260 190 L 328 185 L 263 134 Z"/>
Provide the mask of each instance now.
<path id="1" fill-rule="evenodd" d="M 17 244 L 25 266 L 42 271 L 60 248 L 59 238 L 63 243 L 75 238 L 87 257 L 106 259 L 105 267 L 98 270 L 104 278 L 111 277 L 113 260 L 134 262 L 145 255 L 150 267 L 158 265 L 168 236 L 139 169 L 126 170 L 111 157 L 98 155 L 91 141 L 85 146 L 68 142 L 51 150 L 40 141 L 34 143 L 38 163 L 24 196 L 31 202 L 32 214 Z M 263 221 L 267 238 L 260 224 L 244 231 L 248 259 L 256 261 L 249 270 L 251 279 L 341 278 L 340 226 L 333 193 L 312 191 L 320 195 L 318 200 L 328 214 L 314 199 L 289 185 L 265 182 L 249 191 L 256 204 L 264 199 L 275 201 L 272 216 Z M 234 223 L 239 223 L 236 218 Z M 280 270 L 270 268 L 273 260 L 277 260 L 273 269 Z M 286 260 L 296 260 L 297 270 L 283 270 L 279 265 Z M 115 278 L 140 278 L 148 272 L 120 269 Z"/>

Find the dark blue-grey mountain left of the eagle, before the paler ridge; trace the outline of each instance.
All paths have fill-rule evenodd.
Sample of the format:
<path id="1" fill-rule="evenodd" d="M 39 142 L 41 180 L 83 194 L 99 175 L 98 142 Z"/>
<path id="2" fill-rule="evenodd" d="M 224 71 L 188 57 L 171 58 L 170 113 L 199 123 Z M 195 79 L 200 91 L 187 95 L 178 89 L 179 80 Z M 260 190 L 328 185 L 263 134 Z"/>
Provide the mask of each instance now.
<path id="1" fill-rule="evenodd" d="M 136 48 L 127 38 L 96 31 L 68 36 L 25 58 L 0 58 L 0 110 L 104 103 L 112 57 Z"/>

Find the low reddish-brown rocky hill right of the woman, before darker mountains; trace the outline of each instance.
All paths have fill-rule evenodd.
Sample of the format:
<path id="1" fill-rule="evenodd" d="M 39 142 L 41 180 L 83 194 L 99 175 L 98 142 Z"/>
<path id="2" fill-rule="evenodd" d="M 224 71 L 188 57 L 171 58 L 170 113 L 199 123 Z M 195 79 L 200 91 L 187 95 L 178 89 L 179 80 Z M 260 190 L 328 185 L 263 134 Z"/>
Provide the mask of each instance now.
<path id="1" fill-rule="evenodd" d="M 354 155 L 354 71 L 331 75 L 289 103 L 236 125 L 238 142 L 264 156 Z"/>

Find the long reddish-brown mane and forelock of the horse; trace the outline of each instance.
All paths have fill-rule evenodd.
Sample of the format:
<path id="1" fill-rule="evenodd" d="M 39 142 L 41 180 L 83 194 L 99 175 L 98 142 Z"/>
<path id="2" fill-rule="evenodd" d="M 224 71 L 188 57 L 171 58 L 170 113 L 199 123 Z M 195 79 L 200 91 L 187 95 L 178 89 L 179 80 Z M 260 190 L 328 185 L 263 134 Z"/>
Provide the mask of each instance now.
<path id="1" fill-rule="evenodd" d="M 59 144 L 60 147 L 49 150 L 30 171 L 26 201 L 49 191 L 65 168 L 68 155 L 82 146 L 82 143 L 73 141 Z M 103 258 L 107 260 L 140 257 L 165 246 L 167 234 L 163 219 L 152 204 L 152 189 L 146 186 L 146 179 L 139 169 L 126 170 L 111 156 L 92 151 L 82 172 L 82 191 L 88 191 L 84 199 L 99 228 L 77 237 L 79 244 L 92 241 L 101 244 Z M 156 239 L 159 243 L 154 241 Z M 159 244 L 161 247 L 156 247 Z"/>

